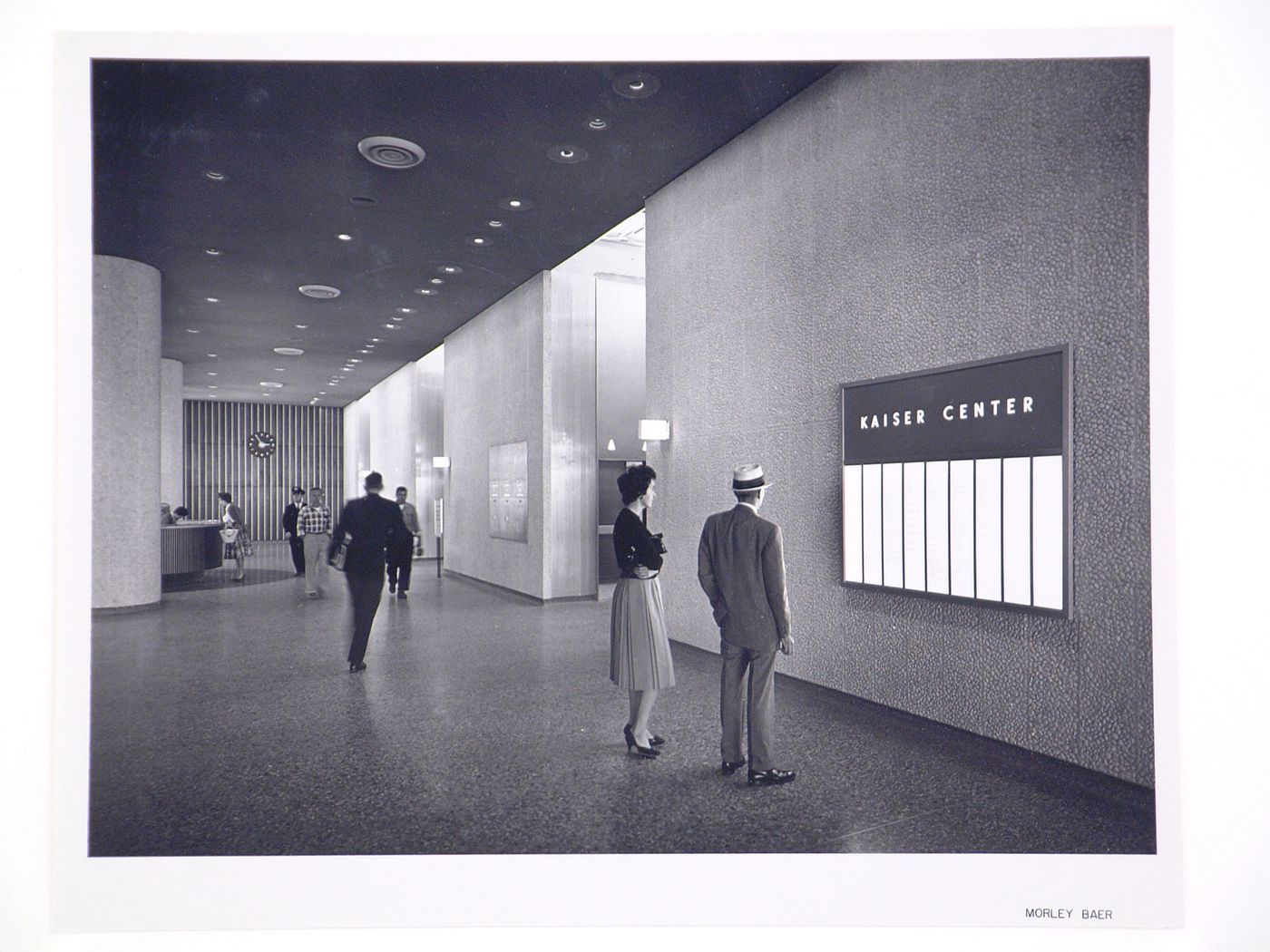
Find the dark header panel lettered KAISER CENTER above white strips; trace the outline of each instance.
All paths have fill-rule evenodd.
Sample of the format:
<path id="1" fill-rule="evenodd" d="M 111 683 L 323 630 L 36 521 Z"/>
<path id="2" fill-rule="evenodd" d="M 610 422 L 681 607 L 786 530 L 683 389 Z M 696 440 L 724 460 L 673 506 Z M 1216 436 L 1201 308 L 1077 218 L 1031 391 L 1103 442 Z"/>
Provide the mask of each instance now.
<path id="1" fill-rule="evenodd" d="M 842 462 L 1058 454 L 1067 348 L 842 387 Z"/>

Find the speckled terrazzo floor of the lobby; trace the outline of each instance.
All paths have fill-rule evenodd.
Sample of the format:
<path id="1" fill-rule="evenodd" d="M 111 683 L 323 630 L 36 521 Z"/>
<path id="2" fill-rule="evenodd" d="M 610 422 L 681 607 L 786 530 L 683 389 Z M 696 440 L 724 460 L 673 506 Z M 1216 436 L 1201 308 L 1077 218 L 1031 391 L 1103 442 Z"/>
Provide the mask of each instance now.
<path id="1" fill-rule="evenodd" d="M 417 562 L 344 661 L 333 572 L 282 543 L 93 622 L 90 856 L 1152 853 L 1149 791 L 777 675 L 795 783 L 719 772 L 718 656 L 676 644 L 626 755 L 608 597 L 537 605 Z"/>

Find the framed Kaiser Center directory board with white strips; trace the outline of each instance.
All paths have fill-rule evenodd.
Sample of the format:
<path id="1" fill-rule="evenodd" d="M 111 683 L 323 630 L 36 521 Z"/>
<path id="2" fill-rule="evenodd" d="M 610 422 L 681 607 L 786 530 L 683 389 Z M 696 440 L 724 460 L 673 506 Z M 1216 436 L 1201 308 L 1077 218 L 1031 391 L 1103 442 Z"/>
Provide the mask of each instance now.
<path id="1" fill-rule="evenodd" d="M 842 584 L 1072 613 L 1068 347 L 842 386 Z"/>

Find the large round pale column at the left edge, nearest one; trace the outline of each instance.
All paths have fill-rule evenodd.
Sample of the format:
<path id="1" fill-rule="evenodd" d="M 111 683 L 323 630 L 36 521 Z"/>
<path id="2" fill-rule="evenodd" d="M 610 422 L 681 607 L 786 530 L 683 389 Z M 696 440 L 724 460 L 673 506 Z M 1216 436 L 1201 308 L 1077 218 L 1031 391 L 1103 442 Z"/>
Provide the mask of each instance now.
<path id="1" fill-rule="evenodd" d="M 161 278 L 93 256 L 93 608 L 159 603 Z"/>

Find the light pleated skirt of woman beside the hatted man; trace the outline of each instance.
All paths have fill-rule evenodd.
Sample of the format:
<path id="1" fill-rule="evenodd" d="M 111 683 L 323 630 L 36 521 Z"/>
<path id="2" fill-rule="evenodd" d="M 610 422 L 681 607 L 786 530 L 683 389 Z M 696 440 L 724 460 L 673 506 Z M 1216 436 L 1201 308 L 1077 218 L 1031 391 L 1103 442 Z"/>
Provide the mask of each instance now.
<path id="1" fill-rule="evenodd" d="M 610 625 L 608 678 L 629 691 L 674 687 L 662 584 L 657 578 L 617 580 Z"/>

